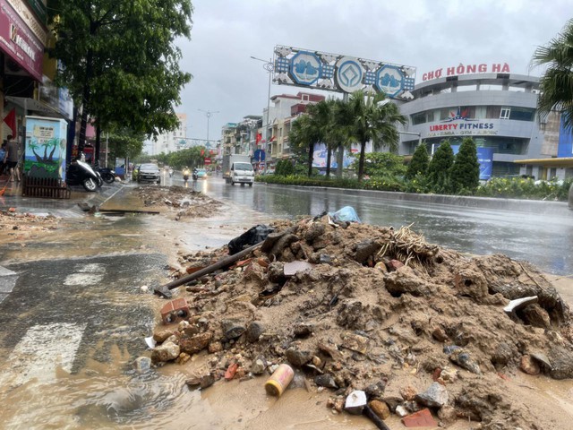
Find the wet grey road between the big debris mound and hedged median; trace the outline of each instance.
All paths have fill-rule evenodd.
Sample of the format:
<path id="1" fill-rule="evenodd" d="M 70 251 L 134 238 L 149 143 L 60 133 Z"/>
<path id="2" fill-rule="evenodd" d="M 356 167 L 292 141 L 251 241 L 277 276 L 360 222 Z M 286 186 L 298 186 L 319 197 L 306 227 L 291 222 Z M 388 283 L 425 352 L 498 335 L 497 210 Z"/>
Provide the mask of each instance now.
<path id="1" fill-rule="evenodd" d="M 435 243 L 468 254 L 507 254 L 548 273 L 573 274 L 573 211 L 547 210 L 532 203 L 531 211 L 492 210 L 458 205 L 406 202 L 377 193 L 351 190 L 255 184 L 227 185 L 218 176 L 195 185 L 215 199 L 225 199 L 278 218 L 315 216 L 353 206 L 363 222 L 412 229 Z"/>

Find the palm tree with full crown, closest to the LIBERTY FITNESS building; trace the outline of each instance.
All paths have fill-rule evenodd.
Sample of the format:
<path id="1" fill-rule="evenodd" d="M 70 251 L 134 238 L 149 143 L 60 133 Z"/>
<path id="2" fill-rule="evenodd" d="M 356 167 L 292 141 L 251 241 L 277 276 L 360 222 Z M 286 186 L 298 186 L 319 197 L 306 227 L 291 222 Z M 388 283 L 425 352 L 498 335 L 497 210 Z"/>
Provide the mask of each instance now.
<path id="1" fill-rule="evenodd" d="M 354 124 L 347 127 L 346 133 L 349 141 L 360 143 L 358 180 L 362 181 L 366 143 L 372 142 L 375 149 L 386 146 L 390 151 L 398 150 L 399 133 L 396 125 L 405 125 L 406 116 L 400 114 L 398 107 L 390 102 L 386 94 L 365 94 L 363 90 L 350 95 L 345 115 L 354 119 Z"/>

